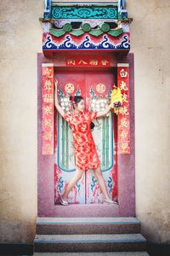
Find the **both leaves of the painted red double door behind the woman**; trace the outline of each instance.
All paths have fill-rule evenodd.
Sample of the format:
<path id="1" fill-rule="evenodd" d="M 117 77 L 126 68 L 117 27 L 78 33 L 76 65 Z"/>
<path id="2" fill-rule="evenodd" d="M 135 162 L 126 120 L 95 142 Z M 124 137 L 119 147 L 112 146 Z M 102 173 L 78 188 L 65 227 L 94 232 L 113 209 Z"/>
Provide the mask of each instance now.
<path id="1" fill-rule="evenodd" d="M 81 95 L 90 111 L 105 109 L 106 99 L 116 83 L 116 72 L 111 71 L 56 71 L 54 77 L 59 82 L 58 93 L 61 106 L 69 109 L 69 95 Z M 101 171 L 110 197 L 117 201 L 117 141 L 116 115 L 109 113 L 94 120 L 93 137 L 99 154 Z M 54 148 L 54 201 L 59 204 L 59 195 L 74 176 L 74 148 L 71 128 L 55 111 L 55 148 Z M 102 204 L 104 197 L 100 191 L 93 170 L 84 176 L 72 189 L 70 204 Z"/>

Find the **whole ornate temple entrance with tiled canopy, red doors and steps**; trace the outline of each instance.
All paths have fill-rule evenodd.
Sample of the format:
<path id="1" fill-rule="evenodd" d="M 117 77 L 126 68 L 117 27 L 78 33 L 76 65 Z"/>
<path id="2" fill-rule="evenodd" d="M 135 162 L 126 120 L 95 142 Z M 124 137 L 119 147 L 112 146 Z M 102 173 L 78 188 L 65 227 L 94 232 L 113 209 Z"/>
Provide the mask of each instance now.
<path id="1" fill-rule="evenodd" d="M 139 222 L 132 218 L 134 79 L 133 54 L 128 53 L 132 19 L 127 17 L 125 1 L 94 2 L 45 1 L 41 19 L 43 55 L 38 54 L 37 79 L 38 219 L 34 241 L 39 252 L 134 251 L 137 246 L 139 251 L 144 249 Z M 71 128 L 54 109 L 54 79 L 58 80 L 60 105 L 66 112 L 71 107 L 70 95 L 83 96 L 92 112 L 105 109 L 114 83 L 122 95 L 120 100 L 116 90 L 112 91 L 114 113 L 96 119 L 93 131 L 101 171 L 114 204 L 104 203 L 93 170 L 84 172 L 69 194 L 69 204 L 59 204 L 59 195 L 76 170 Z M 81 122 L 81 131 L 87 127 L 84 123 Z M 78 136 L 83 143 L 82 133 Z M 79 147 L 88 153 L 89 147 L 84 144 Z M 83 154 L 78 157 L 86 161 Z M 120 221 L 120 217 L 126 219 Z"/>

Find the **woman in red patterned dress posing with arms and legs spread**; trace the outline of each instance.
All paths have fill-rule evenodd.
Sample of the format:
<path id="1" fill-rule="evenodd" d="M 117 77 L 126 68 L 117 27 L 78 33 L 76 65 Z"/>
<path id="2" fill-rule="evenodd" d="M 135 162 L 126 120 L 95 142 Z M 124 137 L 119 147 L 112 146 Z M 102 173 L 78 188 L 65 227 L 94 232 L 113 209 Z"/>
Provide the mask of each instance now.
<path id="1" fill-rule="evenodd" d="M 65 189 L 64 194 L 60 197 L 60 203 L 62 205 L 68 205 L 67 198 L 71 192 L 71 189 L 81 179 L 84 172 L 88 171 L 88 169 L 94 169 L 94 174 L 97 177 L 100 189 L 105 196 L 105 202 L 112 204 L 114 201 L 111 201 L 105 187 L 105 180 L 100 169 L 99 155 L 96 151 L 94 138 L 90 129 L 91 121 L 109 113 L 111 107 L 108 106 L 105 111 L 98 113 L 85 112 L 85 103 L 82 96 L 74 96 L 74 111 L 65 113 L 64 110 L 59 106 L 57 84 L 58 82 L 55 80 L 55 108 L 57 108 L 60 115 L 71 125 L 76 165 L 75 176 L 72 177 L 70 183 Z"/>

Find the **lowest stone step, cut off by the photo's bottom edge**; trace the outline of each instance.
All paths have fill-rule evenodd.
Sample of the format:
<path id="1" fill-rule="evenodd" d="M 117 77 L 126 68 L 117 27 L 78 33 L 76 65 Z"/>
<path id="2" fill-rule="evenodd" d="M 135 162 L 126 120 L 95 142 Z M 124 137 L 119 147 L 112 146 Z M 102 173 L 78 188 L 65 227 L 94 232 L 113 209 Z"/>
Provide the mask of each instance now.
<path id="1" fill-rule="evenodd" d="M 146 252 L 128 253 L 34 253 L 33 256 L 150 256 Z"/>

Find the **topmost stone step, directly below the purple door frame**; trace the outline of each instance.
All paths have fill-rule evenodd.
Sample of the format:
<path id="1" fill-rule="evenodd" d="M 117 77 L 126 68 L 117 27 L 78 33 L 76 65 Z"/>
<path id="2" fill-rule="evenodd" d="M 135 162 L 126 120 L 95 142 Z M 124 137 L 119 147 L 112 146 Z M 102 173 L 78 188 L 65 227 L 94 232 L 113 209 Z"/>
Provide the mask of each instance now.
<path id="1" fill-rule="evenodd" d="M 37 218 L 37 235 L 135 234 L 137 218 Z"/>

